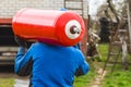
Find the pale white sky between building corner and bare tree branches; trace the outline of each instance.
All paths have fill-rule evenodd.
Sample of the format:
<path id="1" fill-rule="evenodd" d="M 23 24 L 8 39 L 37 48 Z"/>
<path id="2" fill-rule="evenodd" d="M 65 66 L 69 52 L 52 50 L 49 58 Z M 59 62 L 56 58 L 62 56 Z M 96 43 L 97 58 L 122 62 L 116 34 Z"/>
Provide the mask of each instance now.
<path id="1" fill-rule="evenodd" d="M 87 0 L 88 1 L 88 13 L 95 15 L 97 13 L 97 8 L 100 7 L 106 0 Z"/>

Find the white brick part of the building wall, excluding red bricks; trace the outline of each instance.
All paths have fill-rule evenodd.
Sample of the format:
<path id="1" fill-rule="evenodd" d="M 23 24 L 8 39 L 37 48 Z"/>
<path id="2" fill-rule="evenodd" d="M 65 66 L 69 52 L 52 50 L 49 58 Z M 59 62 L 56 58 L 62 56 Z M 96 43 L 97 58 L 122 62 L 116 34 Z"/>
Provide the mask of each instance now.
<path id="1" fill-rule="evenodd" d="M 84 0 L 84 17 L 87 17 L 87 0 Z M 71 3 L 71 7 L 80 7 Z M 59 10 L 64 7 L 64 0 L 0 0 L 0 17 L 12 17 L 20 9 L 33 8 L 43 10 Z M 79 13 L 79 11 L 78 11 Z"/>

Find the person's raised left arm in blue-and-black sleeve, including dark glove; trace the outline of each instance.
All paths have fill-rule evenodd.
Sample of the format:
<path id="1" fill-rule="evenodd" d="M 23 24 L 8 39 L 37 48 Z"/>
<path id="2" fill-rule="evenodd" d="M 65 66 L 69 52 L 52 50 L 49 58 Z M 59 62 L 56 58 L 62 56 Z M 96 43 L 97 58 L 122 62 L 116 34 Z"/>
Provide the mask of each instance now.
<path id="1" fill-rule="evenodd" d="M 22 38 L 15 36 L 15 40 L 20 45 L 20 48 L 14 60 L 14 70 L 17 75 L 27 76 L 31 74 L 33 65 L 33 59 L 29 53 L 31 49 L 27 51 L 26 42 Z"/>

